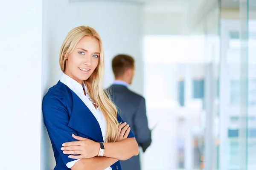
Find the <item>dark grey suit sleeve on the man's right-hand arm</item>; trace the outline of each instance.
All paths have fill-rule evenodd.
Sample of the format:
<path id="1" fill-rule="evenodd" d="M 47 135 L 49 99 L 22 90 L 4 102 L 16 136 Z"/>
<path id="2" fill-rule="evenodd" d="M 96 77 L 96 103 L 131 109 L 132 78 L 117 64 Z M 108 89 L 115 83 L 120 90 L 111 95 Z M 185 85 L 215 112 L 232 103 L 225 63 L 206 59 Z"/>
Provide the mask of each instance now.
<path id="1" fill-rule="evenodd" d="M 142 97 L 137 112 L 134 114 L 134 125 L 136 131 L 136 139 L 142 147 L 143 152 L 151 144 L 151 131 L 148 128 L 148 119 L 146 116 L 145 98 Z"/>

